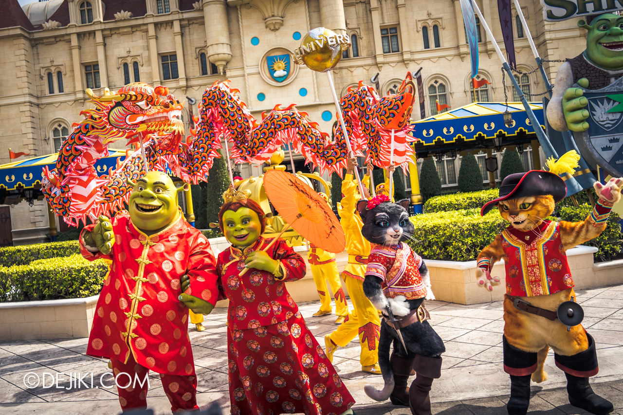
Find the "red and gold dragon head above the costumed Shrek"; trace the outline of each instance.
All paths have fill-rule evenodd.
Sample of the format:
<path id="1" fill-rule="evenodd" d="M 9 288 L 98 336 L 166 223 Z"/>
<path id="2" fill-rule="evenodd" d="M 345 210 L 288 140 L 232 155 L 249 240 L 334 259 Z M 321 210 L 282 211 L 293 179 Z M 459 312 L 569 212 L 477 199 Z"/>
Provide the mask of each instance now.
<path id="1" fill-rule="evenodd" d="M 87 95 L 95 104 L 95 109 L 83 113 L 90 115 L 103 143 L 128 138 L 147 140 L 155 135 L 159 148 L 177 152 L 184 136 L 184 123 L 180 103 L 166 87 L 153 88 L 143 82 L 125 85 L 117 93 L 105 90 L 102 97 L 87 89 Z"/>

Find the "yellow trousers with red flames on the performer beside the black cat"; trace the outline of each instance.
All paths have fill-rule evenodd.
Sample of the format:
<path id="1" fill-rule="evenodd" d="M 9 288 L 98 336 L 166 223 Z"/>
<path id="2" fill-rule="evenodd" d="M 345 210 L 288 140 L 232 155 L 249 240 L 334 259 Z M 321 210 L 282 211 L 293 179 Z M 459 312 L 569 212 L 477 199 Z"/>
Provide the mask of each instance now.
<path id="1" fill-rule="evenodd" d="M 361 268 L 361 269 L 359 269 Z M 355 275 L 364 275 L 365 265 L 346 265 L 345 271 Z M 358 272 L 361 272 L 359 274 Z M 345 322 L 331 333 L 331 341 L 338 346 L 346 346 L 348 342 L 359 335 L 361 344 L 361 354 L 359 361 L 361 365 L 369 366 L 379 361 L 379 332 L 381 330 L 381 320 L 379 313 L 368 297 L 363 293 L 363 281 L 344 275 L 344 283 L 348 290 L 348 295 L 353 303 L 353 310 L 348 313 Z"/>

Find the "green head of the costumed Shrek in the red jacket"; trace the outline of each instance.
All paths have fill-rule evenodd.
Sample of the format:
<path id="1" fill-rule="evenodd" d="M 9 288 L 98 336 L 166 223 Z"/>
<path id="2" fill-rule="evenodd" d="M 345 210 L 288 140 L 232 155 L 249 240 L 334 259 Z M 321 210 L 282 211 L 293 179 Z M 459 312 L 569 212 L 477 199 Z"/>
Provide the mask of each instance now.
<path id="1" fill-rule="evenodd" d="M 177 189 L 169 176 L 161 171 L 150 171 L 136 183 L 128 201 L 132 223 L 145 234 L 158 233 L 179 219 L 178 192 L 188 189 L 184 184 Z"/>

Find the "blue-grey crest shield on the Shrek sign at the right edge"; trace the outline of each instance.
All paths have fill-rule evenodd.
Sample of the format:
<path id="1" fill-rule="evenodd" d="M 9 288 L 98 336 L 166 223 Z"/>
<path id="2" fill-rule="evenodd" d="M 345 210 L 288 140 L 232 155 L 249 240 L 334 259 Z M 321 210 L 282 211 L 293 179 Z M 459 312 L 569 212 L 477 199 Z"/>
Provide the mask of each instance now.
<path id="1" fill-rule="evenodd" d="M 573 85 L 578 88 L 579 86 Z M 613 177 L 623 176 L 623 79 L 598 90 L 584 89 L 588 130 L 574 132 L 578 149 L 593 166 Z"/>

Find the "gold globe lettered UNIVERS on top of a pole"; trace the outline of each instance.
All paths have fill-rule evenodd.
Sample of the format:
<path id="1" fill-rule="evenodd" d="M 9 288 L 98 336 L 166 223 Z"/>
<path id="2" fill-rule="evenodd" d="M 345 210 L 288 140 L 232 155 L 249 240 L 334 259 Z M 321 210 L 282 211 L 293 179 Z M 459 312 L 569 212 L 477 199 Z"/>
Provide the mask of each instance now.
<path id="1" fill-rule="evenodd" d="M 335 67 L 342 58 L 342 52 L 350 46 L 348 35 L 338 35 L 325 27 L 309 31 L 294 50 L 294 62 L 307 65 L 316 72 L 326 72 Z"/>

